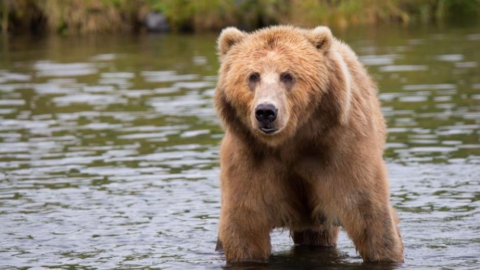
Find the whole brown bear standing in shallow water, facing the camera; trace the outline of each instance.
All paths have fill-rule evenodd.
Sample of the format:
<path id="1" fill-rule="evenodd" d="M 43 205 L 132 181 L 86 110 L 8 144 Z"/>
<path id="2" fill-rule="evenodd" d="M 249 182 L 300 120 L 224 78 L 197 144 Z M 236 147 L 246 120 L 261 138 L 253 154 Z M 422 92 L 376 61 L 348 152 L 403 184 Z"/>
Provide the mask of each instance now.
<path id="1" fill-rule="evenodd" d="M 335 246 L 340 226 L 364 261 L 403 262 L 377 86 L 350 47 L 327 27 L 230 27 L 218 50 L 227 262 L 268 261 L 274 227 Z"/>

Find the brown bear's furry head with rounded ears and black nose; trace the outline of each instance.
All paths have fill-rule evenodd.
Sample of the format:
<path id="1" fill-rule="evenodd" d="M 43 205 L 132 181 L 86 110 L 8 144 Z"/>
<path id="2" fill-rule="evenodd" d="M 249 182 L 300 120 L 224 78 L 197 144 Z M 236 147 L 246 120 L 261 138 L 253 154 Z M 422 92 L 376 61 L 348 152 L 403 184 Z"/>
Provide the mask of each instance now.
<path id="1" fill-rule="evenodd" d="M 338 77 L 330 74 L 333 42 L 323 26 L 224 29 L 217 40 L 221 68 L 214 101 L 227 131 L 270 146 L 293 137 Z"/>

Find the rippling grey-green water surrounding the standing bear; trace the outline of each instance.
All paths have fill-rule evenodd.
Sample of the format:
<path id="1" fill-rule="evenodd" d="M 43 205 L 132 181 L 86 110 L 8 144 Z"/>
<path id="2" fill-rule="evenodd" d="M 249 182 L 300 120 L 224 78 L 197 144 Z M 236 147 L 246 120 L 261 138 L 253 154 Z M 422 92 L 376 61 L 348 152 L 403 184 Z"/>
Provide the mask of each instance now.
<path id="1" fill-rule="evenodd" d="M 334 31 L 380 85 L 405 264 L 272 233 L 230 268 L 480 268 L 480 28 Z M 215 35 L 0 39 L 0 268 L 220 268 Z"/>

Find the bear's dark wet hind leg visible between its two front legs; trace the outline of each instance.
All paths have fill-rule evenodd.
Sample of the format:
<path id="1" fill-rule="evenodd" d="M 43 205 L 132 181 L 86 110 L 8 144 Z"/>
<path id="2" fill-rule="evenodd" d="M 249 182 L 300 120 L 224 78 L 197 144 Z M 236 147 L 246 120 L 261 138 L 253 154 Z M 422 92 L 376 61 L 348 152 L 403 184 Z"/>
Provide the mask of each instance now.
<path id="1" fill-rule="evenodd" d="M 292 230 L 290 236 L 297 245 L 334 247 L 337 246 L 338 227 L 322 225 L 315 230 Z"/>

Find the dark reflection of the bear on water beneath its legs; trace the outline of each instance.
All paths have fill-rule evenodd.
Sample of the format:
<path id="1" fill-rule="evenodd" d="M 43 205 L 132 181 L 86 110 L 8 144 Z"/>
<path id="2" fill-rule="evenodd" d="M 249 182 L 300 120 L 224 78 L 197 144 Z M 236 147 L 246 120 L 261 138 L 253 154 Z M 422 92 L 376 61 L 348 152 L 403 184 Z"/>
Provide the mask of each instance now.
<path id="1" fill-rule="evenodd" d="M 352 263 L 352 258 L 339 252 L 336 247 L 313 245 L 295 245 L 285 253 L 272 254 L 268 263 L 243 262 L 232 263 L 223 267 L 225 270 L 257 269 L 352 269 L 352 270 L 394 270 L 400 263 L 374 262 Z M 361 260 L 361 257 L 358 257 Z"/>

